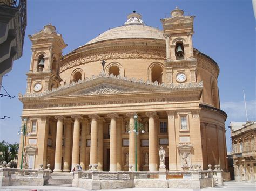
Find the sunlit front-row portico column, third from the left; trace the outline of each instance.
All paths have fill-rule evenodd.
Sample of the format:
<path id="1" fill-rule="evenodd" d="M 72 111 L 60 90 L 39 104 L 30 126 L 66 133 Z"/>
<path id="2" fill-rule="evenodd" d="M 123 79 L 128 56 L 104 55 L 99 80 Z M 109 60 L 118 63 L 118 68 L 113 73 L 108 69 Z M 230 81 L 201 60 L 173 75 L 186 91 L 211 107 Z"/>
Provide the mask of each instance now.
<path id="1" fill-rule="evenodd" d="M 97 163 L 97 137 L 98 137 L 98 118 L 97 114 L 89 115 L 91 122 L 91 147 L 90 147 L 90 164 Z M 93 169 L 94 167 L 92 167 Z"/>

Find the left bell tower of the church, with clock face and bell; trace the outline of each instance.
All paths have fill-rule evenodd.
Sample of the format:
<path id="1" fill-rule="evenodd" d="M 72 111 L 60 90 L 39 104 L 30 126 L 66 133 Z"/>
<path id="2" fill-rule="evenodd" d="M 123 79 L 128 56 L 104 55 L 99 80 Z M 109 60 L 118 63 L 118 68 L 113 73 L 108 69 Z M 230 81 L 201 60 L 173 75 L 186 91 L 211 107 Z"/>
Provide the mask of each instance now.
<path id="1" fill-rule="evenodd" d="M 26 73 L 26 93 L 40 93 L 58 88 L 62 79 L 59 77 L 62 50 L 67 46 L 61 34 L 56 32 L 51 23 L 40 32 L 29 35 L 32 42 L 30 70 Z"/>

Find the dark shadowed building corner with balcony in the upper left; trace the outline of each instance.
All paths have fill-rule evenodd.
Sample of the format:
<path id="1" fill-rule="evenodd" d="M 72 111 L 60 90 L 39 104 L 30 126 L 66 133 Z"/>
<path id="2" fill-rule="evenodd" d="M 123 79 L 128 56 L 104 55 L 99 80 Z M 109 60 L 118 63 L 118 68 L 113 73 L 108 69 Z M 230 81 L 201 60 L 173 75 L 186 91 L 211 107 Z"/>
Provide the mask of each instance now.
<path id="1" fill-rule="evenodd" d="M 26 0 L 0 0 L 0 90 L 3 76 L 21 58 L 26 29 Z"/>

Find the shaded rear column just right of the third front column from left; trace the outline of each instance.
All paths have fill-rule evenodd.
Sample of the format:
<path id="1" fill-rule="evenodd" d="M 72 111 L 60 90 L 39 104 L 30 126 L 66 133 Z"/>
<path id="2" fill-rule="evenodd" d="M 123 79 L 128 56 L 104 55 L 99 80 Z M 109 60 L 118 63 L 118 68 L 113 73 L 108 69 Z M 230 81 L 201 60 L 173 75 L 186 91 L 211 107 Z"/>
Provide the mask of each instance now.
<path id="1" fill-rule="evenodd" d="M 98 119 L 98 150 L 97 150 L 97 158 L 98 158 L 98 171 L 103 171 L 103 147 L 104 147 L 104 139 L 103 139 L 103 128 L 104 128 L 104 118 L 101 117 Z"/>

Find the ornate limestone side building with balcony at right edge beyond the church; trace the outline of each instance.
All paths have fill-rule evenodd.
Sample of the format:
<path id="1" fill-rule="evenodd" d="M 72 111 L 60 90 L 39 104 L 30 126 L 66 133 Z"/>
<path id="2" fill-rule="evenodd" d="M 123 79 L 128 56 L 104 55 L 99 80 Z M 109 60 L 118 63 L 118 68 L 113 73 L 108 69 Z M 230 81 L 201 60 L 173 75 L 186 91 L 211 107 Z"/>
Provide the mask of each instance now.
<path id="1" fill-rule="evenodd" d="M 235 181 L 255 182 L 256 122 L 230 122 Z"/>

